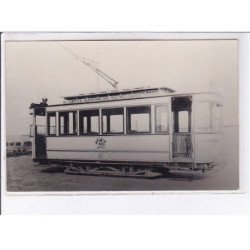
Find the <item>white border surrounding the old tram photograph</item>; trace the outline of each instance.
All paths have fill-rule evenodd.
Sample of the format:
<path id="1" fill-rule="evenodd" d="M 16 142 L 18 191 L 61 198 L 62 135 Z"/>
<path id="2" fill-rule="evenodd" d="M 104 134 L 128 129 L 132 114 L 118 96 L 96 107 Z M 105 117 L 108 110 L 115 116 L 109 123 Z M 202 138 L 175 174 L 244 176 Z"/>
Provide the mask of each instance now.
<path id="1" fill-rule="evenodd" d="M 7 192 L 6 178 L 6 120 L 5 120 L 5 50 L 6 41 L 52 41 L 52 40 L 216 40 L 237 39 L 239 44 L 239 109 L 240 109 L 240 189 L 237 191 L 83 191 L 83 192 Z M 227 200 L 235 200 L 239 209 L 241 202 L 247 198 L 250 207 L 250 172 L 247 169 L 247 107 L 249 107 L 247 82 L 249 81 L 249 46 L 250 39 L 244 33 L 164 33 L 164 32 L 87 32 L 87 33 L 3 33 L 2 51 L 2 119 L 1 119 L 1 176 L 2 176 L 2 212 L 3 213 L 52 213 L 52 214 L 137 214 L 137 213 L 216 213 L 216 208 L 205 204 L 210 201 L 222 203 L 218 213 L 223 210 Z M 249 118 L 247 118 L 249 120 Z M 244 121 L 244 122 L 243 122 Z M 244 136 L 243 136 L 244 135 Z M 224 198 L 223 198 L 224 197 Z M 205 198 L 205 199 L 204 199 Z M 224 200 L 224 201 L 223 201 Z M 125 205 L 124 205 L 125 202 Z M 194 204 L 198 209 L 191 209 Z M 112 204 L 116 204 L 113 206 Z M 176 207 L 181 203 L 180 207 Z M 68 206 L 70 204 L 70 206 Z M 87 206 L 86 206 L 87 204 Z M 102 204 L 100 206 L 100 204 Z M 123 204 L 121 207 L 119 204 Z M 168 204 L 168 206 L 161 206 Z M 186 205 L 185 205 L 186 204 Z M 213 204 L 215 205 L 215 204 Z M 220 206 L 220 205 L 218 205 Z M 244 208 L 243 208 L 244 210 Z"/>

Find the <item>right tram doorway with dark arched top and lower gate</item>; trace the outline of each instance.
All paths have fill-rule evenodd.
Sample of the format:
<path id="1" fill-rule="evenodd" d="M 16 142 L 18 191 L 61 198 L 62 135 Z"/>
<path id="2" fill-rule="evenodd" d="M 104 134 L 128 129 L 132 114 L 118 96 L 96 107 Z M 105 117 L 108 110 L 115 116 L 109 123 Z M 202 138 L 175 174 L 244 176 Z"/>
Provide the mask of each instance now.
<path id="1" fill-rule="evenodd" d="M 192 98 L 172 97 L 172 159 L 188 161 L 192 159 L 193 145 L 191 134 Z"/>

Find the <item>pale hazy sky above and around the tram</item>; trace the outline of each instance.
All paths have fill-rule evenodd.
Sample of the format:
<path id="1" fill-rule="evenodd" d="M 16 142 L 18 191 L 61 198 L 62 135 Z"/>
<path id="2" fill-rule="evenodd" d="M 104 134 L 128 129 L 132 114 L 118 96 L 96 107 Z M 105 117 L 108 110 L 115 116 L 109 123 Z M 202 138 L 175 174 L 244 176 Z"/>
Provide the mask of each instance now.
<path id="1" fill-rule="evenodd" d="M 118 89 L 165 86 L 223 97 L 224 124 L 238 124 L 237 40 L 60 41 L 119 82 Z M 29 105 L 112 86 L 56 41 L 5 43 L 6 133 L 29 133 Z"/>

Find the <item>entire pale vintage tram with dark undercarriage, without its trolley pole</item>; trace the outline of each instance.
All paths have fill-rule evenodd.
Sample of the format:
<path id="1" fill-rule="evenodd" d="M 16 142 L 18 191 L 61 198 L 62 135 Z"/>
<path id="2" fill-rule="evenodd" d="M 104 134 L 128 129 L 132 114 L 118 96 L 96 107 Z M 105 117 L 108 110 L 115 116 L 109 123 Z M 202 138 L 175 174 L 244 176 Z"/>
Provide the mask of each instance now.
<path id="1" fill-rule="evenodd" d="M 57 105 L 43 99 L 30 114 L 33 161 L 66 173 L 153 178 L 204 171 L 221 149 L 222 103 L 214 93 L 116 89 L 66 96 Z"/>

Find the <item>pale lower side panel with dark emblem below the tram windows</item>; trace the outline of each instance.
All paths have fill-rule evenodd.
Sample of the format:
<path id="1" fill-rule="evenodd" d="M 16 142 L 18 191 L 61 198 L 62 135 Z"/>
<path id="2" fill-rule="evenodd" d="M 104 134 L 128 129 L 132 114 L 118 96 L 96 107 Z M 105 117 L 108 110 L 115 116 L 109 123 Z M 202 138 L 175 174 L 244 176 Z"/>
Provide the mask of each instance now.
<path id="1" fill-rule="evenodd" d="M 169 135 L 47 138 L 48 160 L 169 162 Z"/>

